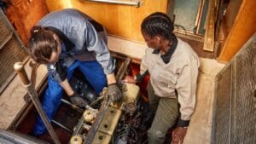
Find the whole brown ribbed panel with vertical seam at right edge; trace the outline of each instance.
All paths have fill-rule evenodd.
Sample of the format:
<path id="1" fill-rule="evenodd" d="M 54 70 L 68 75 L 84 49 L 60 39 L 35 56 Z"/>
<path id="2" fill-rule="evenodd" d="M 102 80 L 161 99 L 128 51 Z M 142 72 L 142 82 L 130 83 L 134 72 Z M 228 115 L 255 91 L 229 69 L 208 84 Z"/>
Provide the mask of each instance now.
<path id="1" fill-rule="evenodd" d="M 256 34 L 216 78 L 212 144 L 256 141 Z"/>

